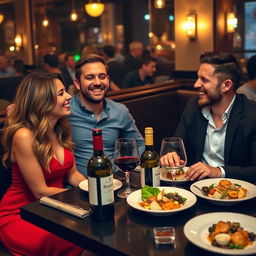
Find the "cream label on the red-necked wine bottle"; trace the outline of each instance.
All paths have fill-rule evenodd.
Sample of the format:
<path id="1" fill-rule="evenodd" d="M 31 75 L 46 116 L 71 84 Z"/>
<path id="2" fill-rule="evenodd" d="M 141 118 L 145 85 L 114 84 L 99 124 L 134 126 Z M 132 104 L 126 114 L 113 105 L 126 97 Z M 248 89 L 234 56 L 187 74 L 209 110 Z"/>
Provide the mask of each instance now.
<path id="1" fill-rule="evenodd" d="M 113 174 L 107 177 L 88 177 L 89 202 L 92 205 L 107 205 L 114 202 Z"/>

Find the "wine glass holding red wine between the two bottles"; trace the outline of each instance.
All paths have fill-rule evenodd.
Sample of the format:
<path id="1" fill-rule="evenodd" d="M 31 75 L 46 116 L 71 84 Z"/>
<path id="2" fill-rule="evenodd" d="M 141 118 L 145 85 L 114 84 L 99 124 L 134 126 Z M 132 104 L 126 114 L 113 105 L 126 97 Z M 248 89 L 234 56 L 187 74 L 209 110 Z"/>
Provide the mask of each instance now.
<path id="1" fill-rule="evenodd" d="M 135 139 L 119 138 L 116 140 L 114 161 L 117 167 L 125 173 L 126 178 L 124 190 L 117 193 L 119 197 L 127 198 L 131 194 L 130 173 L 139 164 L 139 160 L 139 150 Z"/>

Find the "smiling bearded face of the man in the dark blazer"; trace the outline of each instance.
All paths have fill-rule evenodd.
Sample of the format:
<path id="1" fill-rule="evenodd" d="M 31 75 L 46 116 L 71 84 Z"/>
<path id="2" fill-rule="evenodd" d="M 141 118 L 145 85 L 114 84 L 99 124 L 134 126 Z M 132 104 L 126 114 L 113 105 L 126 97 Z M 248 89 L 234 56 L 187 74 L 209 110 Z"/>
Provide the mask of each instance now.
<path id="1" fill-rule="evenodd" d="M 194 88 L 199 92 L 198 105 L 200 107 L 213 106 L 223 98 L 222 83 L 219 83 L 214 71 L 215 67 L 207 63 L 199 67 Z"/>

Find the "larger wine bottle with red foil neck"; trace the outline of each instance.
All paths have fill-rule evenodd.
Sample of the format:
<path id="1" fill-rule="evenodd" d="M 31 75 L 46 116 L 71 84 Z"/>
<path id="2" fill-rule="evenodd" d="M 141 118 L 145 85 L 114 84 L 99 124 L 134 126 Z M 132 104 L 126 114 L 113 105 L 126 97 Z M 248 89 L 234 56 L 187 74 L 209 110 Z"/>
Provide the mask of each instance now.
<path id="1" fill-rule="evenodd" d="M 114 217 L 113 172 L 104 155 L 102 130 L 93 129 L 93 156 L 87 165 L 89 202 L 92 219 L 106 221 Z"/>

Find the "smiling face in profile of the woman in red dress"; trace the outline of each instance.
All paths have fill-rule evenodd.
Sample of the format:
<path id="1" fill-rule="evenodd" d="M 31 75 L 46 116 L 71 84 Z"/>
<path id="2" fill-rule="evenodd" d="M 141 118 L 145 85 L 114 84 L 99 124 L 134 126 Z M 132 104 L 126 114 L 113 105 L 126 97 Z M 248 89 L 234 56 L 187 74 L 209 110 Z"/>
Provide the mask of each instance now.
<path id="1" fill-rule="evenodd" d="M 72 97 L 65 91 L 65 86 L 59 79 L 54 80 L 54 85 L 56 87 L 57 99 L 56 104 L 49 112 L 49 115 L 58 120 L 71 114 L 69 101 Z"/>

